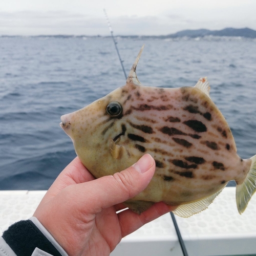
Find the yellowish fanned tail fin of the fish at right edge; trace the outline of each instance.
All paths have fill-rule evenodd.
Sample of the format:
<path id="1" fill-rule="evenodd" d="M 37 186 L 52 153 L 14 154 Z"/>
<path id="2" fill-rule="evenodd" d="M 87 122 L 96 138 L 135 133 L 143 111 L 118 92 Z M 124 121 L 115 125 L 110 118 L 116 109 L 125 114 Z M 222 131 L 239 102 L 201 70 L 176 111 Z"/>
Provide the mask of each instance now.
<path id="1" fill-rule="evenodd" d="M 250 170 L 244 182 L 240 185 L 237 185 L 236 189 L 237 207 L 240 214 L 244 212 L 248 202 L 256 190 L 256 155 L 250 159 Z"/>

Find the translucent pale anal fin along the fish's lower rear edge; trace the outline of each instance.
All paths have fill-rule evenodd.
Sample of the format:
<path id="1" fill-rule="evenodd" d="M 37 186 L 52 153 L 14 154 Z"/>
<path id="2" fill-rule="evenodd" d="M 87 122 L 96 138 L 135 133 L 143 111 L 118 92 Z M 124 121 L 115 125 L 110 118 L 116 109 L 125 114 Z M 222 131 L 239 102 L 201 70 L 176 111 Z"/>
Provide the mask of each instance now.
<path id="1" fill-rule="evenodd" d="M 188 204 L 181 204 L 173 211 L 173 213 L 183 218 L 188 218 L 194 214 L 198 214 L 199 212 L 208 208 L 214 199 L 221 193 L 222 189 L 220 189 L 214 195 L 206 197 L 202 200 Z"/>

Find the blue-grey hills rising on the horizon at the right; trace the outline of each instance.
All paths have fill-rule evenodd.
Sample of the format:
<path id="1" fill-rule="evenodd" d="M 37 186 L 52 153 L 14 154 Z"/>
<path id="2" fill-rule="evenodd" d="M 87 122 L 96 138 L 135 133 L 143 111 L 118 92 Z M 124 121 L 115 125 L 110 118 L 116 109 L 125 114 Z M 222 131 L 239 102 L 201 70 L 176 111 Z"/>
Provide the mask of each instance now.
<path id="1" fill-rule="evenodd" d="M 175 34 L 166 35 L 166 38 L 176 38 L 176 37 L 203 37 L 203 36 L 242 36 L 249 38 L 256 38 L 256 31 L 249 28 L 234 29 L 226 28 L 222 30 L 208 30 L 208 29 L 197 29 L 197 30 L 182 30 Z"/>

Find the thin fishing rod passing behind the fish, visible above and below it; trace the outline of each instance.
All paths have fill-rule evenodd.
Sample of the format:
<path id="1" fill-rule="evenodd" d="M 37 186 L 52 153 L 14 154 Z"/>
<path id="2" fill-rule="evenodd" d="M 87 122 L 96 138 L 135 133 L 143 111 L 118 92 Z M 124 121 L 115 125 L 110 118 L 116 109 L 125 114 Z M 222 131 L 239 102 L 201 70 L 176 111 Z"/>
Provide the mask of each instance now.
<path id="1" fill-rule="evenodd" d="M 124 70 L 124 67 L 123 67 L 123 60 L 121 59 L 121 56 L 120 56 L 118 48 L 117 48 L 117 42 L 116 42 L 115 37 L 113 35 L 113 30 L 112 30 L 112 27 L 110 25 L 110 20 L 109 20 L 108 14 L 106 14 L 106 10 L 103 9 L 103 11 L 105 13 L 106 22 L 108 23 L 108 26 L 109 26 L 109 29 L 110 29 L 110 33 L 111 33 L 112 39 L 114 41 L 114 45 L 116 47 L 116 52 L 117 52 L 118 58 L 120 60 L 120 63 L 121 63 L 122 69 L 123 69 L 123 73 L 124 73 L 124 76 L 125 76 L 125 80 L 126 80 L 127 76 L 126 76 L 126 73 L 125 73 L 125 70 Z M 179 239 L 179 243 L 180 243 L 180 247 L 181 247 L 181 250 L 183 252 L 183 255 L 184 256 L 188 256 L 187 250 L 186 250 L 186 247 L 185 247 L 185 244 L 184 244 L 184 241 L 183 241 L 181 233 L 180 233 L 180 229 L 178 227 L 177 221 L 176 221 L 175 216 L 174 216 L 172 211 L 170 211 L 170 216 L 172 217 L 172 220 L 173 220 L 173 223 L 174 223 L 174 227 L 175 227 L 178 239 Z"/>

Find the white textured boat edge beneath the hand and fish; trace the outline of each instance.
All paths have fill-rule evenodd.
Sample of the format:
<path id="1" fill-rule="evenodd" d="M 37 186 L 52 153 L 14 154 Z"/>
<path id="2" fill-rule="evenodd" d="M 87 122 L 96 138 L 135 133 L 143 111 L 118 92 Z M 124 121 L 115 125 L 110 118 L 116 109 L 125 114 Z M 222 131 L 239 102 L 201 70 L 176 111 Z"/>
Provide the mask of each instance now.
<path id="1" fill-rule="evenodd" d="M 176 220 L 189 256 L 256 254 L 256 195 L 239 215 L 234 187 L 226 187 L 207 210 Z M 33 215 L 46 191 L 0 191 L 0 233 Z M 111 256 L 183 256 L 170 214 L 122 239 Z"/>

